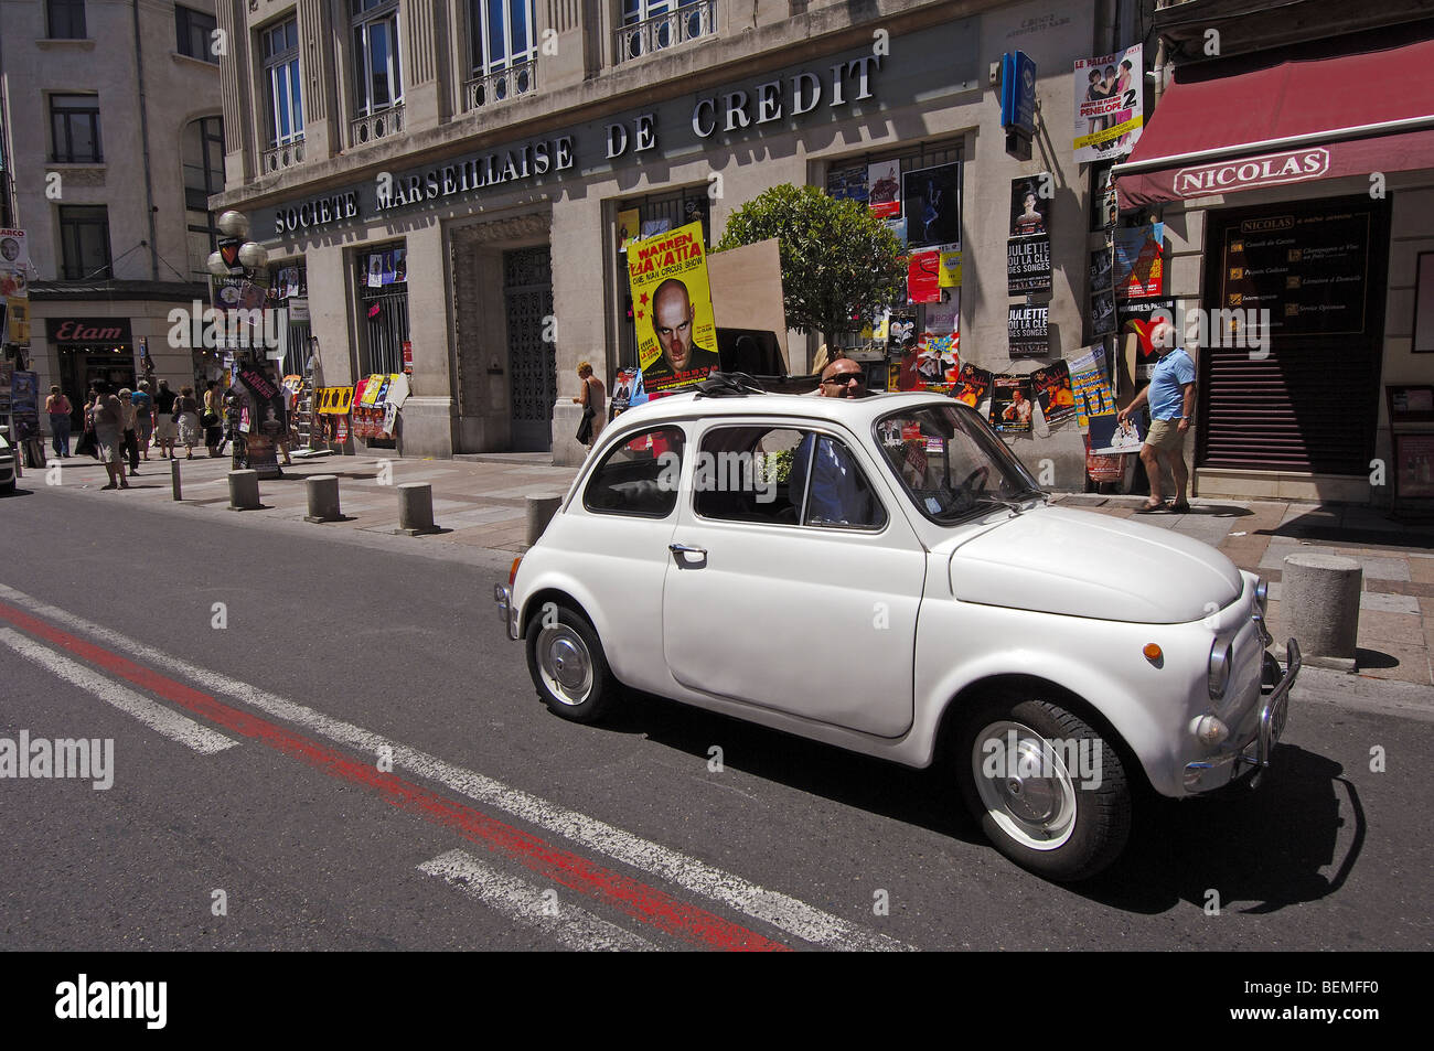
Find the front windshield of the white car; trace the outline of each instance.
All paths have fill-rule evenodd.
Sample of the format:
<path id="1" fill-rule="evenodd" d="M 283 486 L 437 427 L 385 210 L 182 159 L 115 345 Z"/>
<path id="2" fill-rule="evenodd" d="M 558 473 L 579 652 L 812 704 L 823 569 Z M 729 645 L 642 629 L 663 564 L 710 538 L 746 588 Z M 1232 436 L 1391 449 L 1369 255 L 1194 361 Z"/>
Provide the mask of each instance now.
<path id="1" fill-rule="evenodd" d="M 1041 496 L 1031 472 L 979 416 L 956 404 L 905 409 L 876 422 L 886 466 L 922 515 L 944 525 Z"/>

